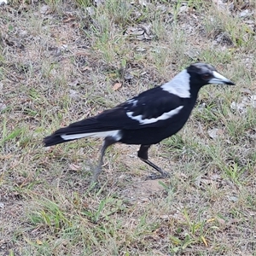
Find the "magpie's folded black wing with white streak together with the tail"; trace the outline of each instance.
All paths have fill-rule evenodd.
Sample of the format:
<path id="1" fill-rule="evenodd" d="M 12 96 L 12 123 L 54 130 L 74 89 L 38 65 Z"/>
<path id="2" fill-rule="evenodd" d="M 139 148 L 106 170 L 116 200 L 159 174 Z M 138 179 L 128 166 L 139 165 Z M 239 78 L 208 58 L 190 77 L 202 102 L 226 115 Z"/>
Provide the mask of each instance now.
<path id="1" fill-rule="evenodd" d="M 63 143 L 87 136 L 107 136 L 108 131 L 137 130 L 148 127 L 166 125 L 166 119 L 172 119 L 181 111 L 185 99 L 162 90 L 160 87 L 144 91 L 115 108 L 99 113 L 89 119 L 83 119 L 67 127 L 55 131 L 52 136 L 45 138 L 45 144 Z M 104 132 L 107 131 L 105 134 Z M 104 134 L 103 134 L 103 133 Z M 72 136 L 64 138 L 63 135 Z M 62 136 L 62 137 L 61 137 Z M 61 137 L 61 138 L 60 138 Z"/>

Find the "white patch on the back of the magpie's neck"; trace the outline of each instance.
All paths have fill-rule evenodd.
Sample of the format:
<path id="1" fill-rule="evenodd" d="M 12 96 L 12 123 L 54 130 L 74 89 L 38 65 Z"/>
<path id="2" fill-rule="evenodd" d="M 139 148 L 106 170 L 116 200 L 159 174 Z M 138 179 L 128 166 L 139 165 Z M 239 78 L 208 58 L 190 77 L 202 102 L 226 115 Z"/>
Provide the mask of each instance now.
<path id="1" fill-rule="evenodd" d="M 160 87 L 163 90 L 166 90 L 174 95 L 177 95 L 181 98 L 190 97 L 190 75 L 186 69 L 182 72 L 177 73 L 177 75 L 166 84 L 161 85 Z"/>

